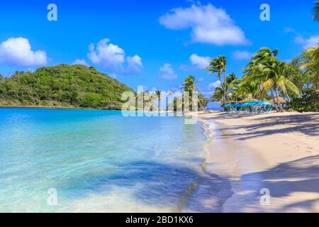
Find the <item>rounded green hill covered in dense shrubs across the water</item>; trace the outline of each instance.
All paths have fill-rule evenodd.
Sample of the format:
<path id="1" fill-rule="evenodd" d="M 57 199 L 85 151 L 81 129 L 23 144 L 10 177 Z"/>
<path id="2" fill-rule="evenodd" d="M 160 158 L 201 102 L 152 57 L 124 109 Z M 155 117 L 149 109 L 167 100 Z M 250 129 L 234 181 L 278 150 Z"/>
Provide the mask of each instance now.
<path id="1" fill-rule="evenodd" d="M 94 67 L 57 65 L 0 76 L 1 106 L 65 106 L 121 109 L 125 84 Z"/>

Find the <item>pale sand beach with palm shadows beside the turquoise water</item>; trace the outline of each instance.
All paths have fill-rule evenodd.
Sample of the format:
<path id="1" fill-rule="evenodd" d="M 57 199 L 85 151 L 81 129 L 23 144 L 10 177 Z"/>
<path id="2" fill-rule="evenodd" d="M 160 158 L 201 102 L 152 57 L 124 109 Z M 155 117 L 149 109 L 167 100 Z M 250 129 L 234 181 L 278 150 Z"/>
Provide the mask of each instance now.
<path id="1" fill-rule="evenodd" d="M 212 139 L 206 171 L 231 182 L 223 212 L 319 212 L 319 113 L 199 116 Z"/>

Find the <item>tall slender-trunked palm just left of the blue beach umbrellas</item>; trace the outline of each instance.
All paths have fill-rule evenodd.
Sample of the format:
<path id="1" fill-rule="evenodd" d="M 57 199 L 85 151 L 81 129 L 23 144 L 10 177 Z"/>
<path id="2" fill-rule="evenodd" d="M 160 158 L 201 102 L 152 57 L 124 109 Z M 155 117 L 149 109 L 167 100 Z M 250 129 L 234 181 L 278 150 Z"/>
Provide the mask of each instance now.
<path id="1" fill-rule="evenodd" d="M 226 57 L 220 55 L 211 60 L 211 62 L 209 62 L 208 67 L 204 69 L 205 71 L 208 71 L 208 74 L 217 73 L 218 79 L 220 80 L 220 84 L 222 84 L 224 90 L 224 104 L 227 100 L 226 64 Z M 224 83 L 221 81 L 222 73 L 224 74 Z"/>

